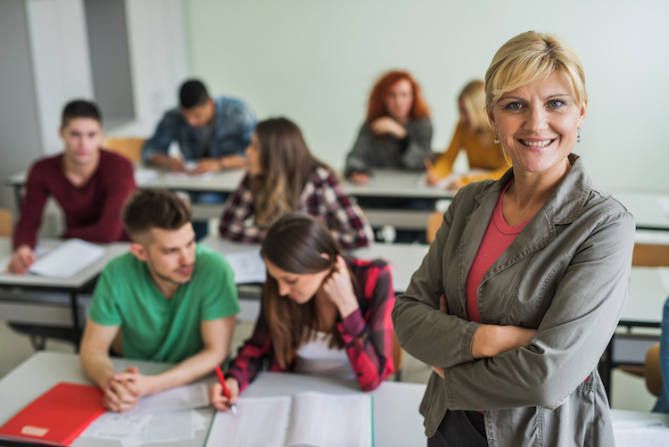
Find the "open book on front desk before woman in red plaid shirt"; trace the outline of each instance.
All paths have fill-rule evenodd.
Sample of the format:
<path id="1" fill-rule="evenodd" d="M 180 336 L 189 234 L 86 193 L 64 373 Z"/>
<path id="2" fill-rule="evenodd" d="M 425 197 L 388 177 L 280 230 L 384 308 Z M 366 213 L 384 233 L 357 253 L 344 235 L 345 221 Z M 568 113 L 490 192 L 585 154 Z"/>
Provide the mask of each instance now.
<path id="1" fill-rule="evenodd" d="M 205 447 L 372 447 L 369 394 L 246 397 L 214 416 Z"/>

